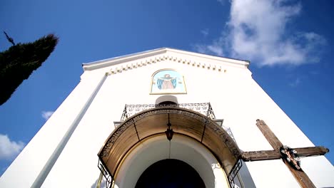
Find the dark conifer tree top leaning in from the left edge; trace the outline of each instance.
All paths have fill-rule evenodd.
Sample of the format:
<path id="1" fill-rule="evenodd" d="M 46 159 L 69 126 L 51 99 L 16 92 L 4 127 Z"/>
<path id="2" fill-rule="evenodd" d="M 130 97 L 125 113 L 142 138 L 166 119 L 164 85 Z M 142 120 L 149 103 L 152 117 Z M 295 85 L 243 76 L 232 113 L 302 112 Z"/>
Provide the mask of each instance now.
<path id="1" fill-rule="evenodd" d="M 58 38 L 49 34 L 32 43 L 17 43 L 0 52 L 0 105 L 6 103 L 23 80 L 46 61 L 57 42 Z"/>

